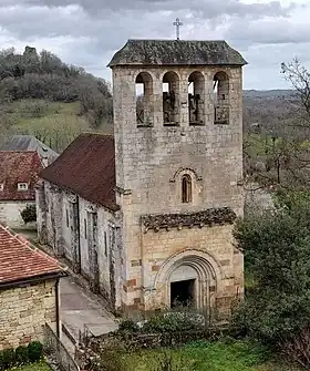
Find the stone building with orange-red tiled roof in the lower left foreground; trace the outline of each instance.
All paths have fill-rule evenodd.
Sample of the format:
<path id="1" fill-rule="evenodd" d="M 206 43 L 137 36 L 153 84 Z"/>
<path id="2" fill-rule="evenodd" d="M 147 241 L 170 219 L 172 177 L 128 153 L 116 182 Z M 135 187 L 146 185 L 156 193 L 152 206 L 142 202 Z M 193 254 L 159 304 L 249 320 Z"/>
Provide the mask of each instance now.
<path id="1" fill-rule="evenodd" d="M 55 259 L 0 225 L 0 350 L 42 341 L 45 323 L 60 334 L 62 276 Z"/>

